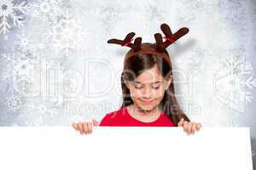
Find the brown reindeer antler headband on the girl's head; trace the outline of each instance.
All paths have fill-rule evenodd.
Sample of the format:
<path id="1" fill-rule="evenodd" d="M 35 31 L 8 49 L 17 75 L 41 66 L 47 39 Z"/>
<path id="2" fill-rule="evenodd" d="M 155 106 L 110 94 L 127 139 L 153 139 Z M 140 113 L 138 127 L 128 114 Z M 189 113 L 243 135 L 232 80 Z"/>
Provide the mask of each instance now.
<path id="1" fill-rule="evenodd" d="M 142 37 L 137 37 L 134 40 L 134 43 L 132 43 L 131 41 L 135 36 L 134 32 L 130 32 L 129 34 L 127 34 L 124 40 L 110 39 L 108 40 L 108 43 L 116 43 L 121 46 L 131 48 L 131 50 L 125 56 L 124 67 L 127 60 L 130 59 L 135 54 L 155 54 L 165 59 L 167 63 L 171 65 L 171 59 L 169 54 L 166 51 L 166 48 L 172 43 L 176 42 L 177 39 L 187 34 L 189 32 L 189 28 L 187 27 L 180 28 L 174 34 L 172 34 L 170 26 L 166 24 L 162 24 L 160 26 L 160 29 L 164 32 L 165 37 L 162 37 L 160 33 L 155 33 L 154 34 L 155 43 L 142 43 Z M 162 38 L 166 39 L 166 41 L 163 42 Z"/>

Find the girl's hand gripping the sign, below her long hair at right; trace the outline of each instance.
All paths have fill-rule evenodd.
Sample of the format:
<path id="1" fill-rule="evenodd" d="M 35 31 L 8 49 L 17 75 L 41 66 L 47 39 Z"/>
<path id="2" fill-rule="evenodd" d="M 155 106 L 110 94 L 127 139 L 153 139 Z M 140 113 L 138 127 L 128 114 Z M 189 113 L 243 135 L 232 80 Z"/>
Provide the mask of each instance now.
<path id="1" fill-rule="evenodd" d="M 194 134 L 195 131 L 199 131 L 201 128 L 201 123 L 187 122 L 187 121 L 184 121 L 184 118 L 182 118 L 177 123 L 177 127 L 183 127 L 184 132 L 186 132 L 189 135 L 191 133 Z"/>

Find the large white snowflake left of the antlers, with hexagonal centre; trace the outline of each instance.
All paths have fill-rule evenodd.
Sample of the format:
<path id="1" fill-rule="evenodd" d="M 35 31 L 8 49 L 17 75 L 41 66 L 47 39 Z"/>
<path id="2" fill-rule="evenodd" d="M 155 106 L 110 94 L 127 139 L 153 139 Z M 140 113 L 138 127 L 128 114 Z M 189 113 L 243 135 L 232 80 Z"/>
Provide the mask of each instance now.
<path id="1" fill-rule="evenodd" d="M 49 36 L 52 37 L 55 49 L 68 55 L 72 50 L 79 48 L 79 42 L 83 37 L 82 26 L 79 26 L 78 22 L 66 13 L 65 17 L 49 31 Z"/>

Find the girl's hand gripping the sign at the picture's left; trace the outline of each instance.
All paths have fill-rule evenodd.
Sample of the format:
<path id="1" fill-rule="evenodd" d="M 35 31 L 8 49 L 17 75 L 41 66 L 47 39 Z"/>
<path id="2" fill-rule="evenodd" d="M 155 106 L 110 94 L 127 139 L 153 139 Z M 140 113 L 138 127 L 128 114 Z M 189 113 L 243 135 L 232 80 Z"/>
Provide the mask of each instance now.
<path id="1" fill-rule="evenodd" d="M 78 122 L 72 123 L 72 126 L 76 131 L 79 131 L 81 134 L 90 134 L 92 133 L 92 126 L 99 126 L 99 122 L 95 119 L 92 119 L 92 122 Z"/>

